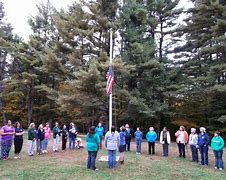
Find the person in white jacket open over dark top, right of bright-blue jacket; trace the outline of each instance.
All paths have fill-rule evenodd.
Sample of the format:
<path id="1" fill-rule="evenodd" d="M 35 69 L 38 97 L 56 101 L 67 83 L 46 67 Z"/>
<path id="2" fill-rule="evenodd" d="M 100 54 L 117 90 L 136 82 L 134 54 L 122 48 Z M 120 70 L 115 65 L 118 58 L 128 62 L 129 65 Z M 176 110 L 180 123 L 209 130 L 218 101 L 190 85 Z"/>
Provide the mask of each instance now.
<path id="1" fill-rule="evenodd" d="M 170 145 L 170 133 L 167 128 L 164 127 L 160 133 L 160 143 L 162 144 L 163 156 L 167 157 L 169 155 L 169 145 Z"/>

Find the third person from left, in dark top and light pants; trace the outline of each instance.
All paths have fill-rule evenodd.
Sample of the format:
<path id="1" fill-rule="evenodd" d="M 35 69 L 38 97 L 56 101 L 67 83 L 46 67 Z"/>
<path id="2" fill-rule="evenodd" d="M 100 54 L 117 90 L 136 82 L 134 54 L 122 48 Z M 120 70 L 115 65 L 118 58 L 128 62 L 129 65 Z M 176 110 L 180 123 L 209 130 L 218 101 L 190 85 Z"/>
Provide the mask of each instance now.
<path id="1" fill-rule="evenodd" d="M 28 127 L 28 155 L 33 156 L 37 140 L 37 130 L 35 129 L 35 123 L 31 123 Z"/>

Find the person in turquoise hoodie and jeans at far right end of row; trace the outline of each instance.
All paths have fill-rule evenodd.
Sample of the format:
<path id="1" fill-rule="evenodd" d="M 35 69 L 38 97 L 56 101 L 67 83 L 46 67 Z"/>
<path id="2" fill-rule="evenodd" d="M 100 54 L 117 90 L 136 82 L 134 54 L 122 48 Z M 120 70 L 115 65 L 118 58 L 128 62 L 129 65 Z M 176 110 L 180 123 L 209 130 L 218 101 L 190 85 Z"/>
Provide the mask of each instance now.
<path id="1" fill-rule="evenodd" d="M 223 162 L 223 149 L 224 149 L 224 140 L 220 136 L 219 131 L 215 131 L 214 137 L 211 140 L 211 148 L 215 157 L 215 169 L 223 170 L 224 162 Z"/>

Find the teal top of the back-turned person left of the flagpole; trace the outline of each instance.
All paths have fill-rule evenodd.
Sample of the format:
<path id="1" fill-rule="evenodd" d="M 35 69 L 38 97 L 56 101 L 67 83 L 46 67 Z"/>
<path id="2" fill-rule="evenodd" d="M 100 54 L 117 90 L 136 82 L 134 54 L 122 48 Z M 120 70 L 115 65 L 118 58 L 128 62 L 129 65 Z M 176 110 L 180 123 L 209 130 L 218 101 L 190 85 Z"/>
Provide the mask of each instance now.
<path id="1" fill-rule="evenodd" d="M 100 138 L 98 134 L 86 135 L 86 149 L 87 151 L 98 151 L 100 144 Z"/>

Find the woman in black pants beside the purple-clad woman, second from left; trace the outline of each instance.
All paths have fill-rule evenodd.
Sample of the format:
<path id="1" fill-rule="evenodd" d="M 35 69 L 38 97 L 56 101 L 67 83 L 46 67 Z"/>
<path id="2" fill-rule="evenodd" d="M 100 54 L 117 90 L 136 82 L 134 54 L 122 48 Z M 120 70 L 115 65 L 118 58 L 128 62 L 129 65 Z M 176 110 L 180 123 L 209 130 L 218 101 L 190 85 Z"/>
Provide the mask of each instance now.
<path id="1" fill-rule="evenodd" d="M 15 137 L 14 137 L 14 147 L 15 147 L 15 156 L 14 159 L 20 159 L 20 152 L 23 146 L 23 134 L 24 130 L 21 127 L 19 122 L 16 122 L 15 128 Z"/>

